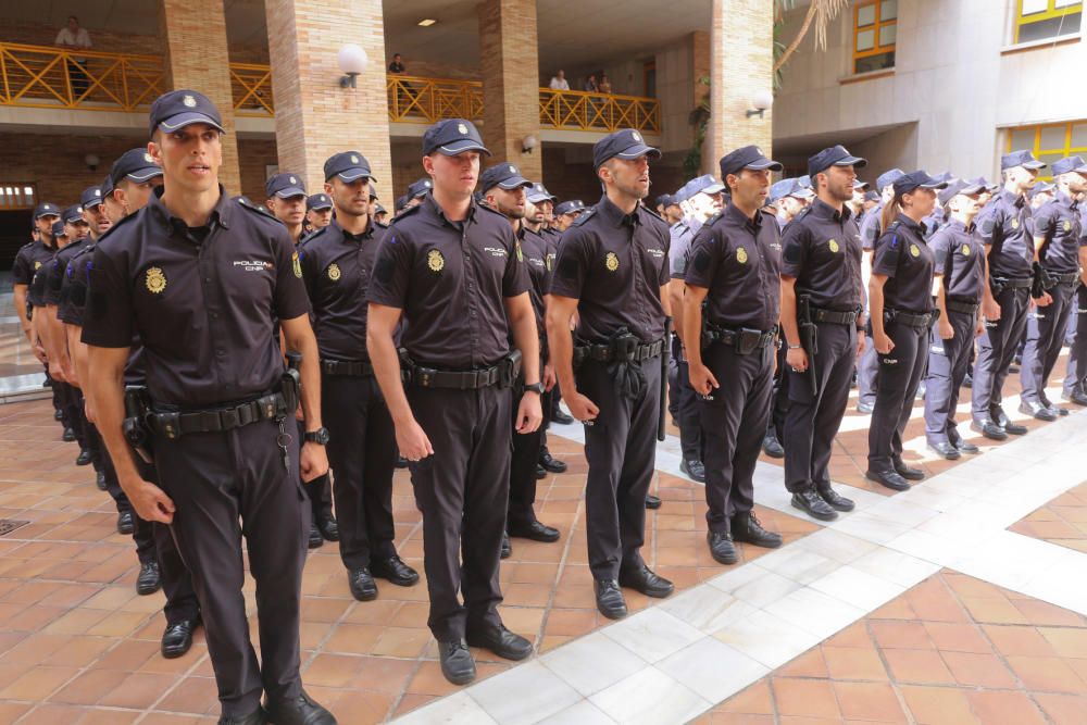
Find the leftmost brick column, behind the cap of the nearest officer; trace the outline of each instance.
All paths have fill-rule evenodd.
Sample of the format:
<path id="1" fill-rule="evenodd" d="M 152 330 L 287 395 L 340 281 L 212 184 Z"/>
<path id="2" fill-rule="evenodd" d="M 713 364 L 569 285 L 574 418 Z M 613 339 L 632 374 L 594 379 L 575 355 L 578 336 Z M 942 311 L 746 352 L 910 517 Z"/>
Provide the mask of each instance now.
<path id="1" fill-rule="evenodd" d="M 166 39 L 168 86 L 199 90 L 218 108 L 226 129 L 218 179 L 227 193 L 241 193 L 223 0 L 162 0 L 159 20 Z"/>

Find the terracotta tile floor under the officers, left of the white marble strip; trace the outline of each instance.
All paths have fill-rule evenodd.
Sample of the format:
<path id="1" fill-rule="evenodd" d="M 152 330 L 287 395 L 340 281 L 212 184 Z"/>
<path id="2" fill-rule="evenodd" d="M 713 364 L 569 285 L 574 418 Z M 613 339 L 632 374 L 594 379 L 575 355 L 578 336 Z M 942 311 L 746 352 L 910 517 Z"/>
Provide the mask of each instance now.
<path id="1" fill-rule="evenodd" d="M 48 401 L 0 407 L 0 517 L 28 521 L 0 538 L 0 723 L 141 723 L 212 721 L 218 712 L 202 630 L 179 660 L 158 654 L 164 626 L 162 595 L 138 597 L 133 546 L 114 532 L 112 501 L 89 467 L 72 461 L 72 443 Z M 559 543 L 514 539 L 503 562 L 508 626 L 540 651 L 607 623 L 594 605 L 582 491 L 586 462 L 579 445 L 551 436 L 566 474 L 541 482 L 538 515 L 562 532 Z M 703 489 L 660 474 L 664 499 L 649 512 L 646 559 L 684 589 L 724 571 L 705 543 Z M 401 554 L 422 571 L 420 514 L 407 472 L 398 472 L 393 500 Z M 759 509 L 786 542 L 816 525 Z M 741 545 L 740 560 L 764 553 Z M 426 629 L 425 583 L 379 585 L 373 602 L 355 602 L 337 553 L 312 552 L 303 578 L 302 647 L 307 689 L 343 723 L 380 722 L 457 690 L 441 676 Z M 252 605 L 253 583 L 247 582 Z M 650 604 L 627 593 L 634 611 Z M 254 625 L 251 622 L 251 628 Z M 475 652 L 480 678 L 510 665 Z"/>

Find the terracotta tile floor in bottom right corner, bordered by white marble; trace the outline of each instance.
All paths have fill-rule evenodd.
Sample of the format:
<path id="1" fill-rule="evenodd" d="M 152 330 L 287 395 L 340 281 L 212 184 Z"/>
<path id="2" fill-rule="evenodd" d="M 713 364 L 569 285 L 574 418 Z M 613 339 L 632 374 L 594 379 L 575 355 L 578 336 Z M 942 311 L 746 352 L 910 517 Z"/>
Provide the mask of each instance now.
<path id="1" fill-rule="evenodd" d="M 1085 722 L 1087 618 L 944 570 L 697 723 Z"/>

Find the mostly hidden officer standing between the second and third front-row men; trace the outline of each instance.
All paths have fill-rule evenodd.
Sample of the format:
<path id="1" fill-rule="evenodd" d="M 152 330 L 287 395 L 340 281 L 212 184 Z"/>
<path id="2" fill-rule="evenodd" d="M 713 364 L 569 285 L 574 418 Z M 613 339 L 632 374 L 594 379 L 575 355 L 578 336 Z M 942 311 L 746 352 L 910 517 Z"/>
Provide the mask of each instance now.
<path id="1" fill-rule="evenodd" d="M 525 224 L 525 213 L 526 197 L 535 196 L 541 204 L 548 202 L 550 197 L 546 196 L 546 189 L 542 189 L 541 184 L 534 185 L 521 175 L 516 166 L 508 163 L 495 164 L 487 168 L 479 178 L 479 188 L 483 190 L 487 205 L 510 221 L 520 245 L 520 252 L 527 266 L 528 277 L 532 282 L 528 296 L 532 298 L 533 312 L 536 315 L 536 329 L 540 346 L 539 368 L 544 371 L 541 382 L 545 389 L 544 397 L 547 398 L 547 393 L 554 387 L 554 370 L 548 359 L 547 337 L 544 327 L 545 300 L 551 278 L 547 260 L 548 242 L 536 229 L 529 228 Z M 536 205 L 536 202 L 529 201 L 527 203 Z M 537 209 L 539 208 L 537 207 Z M 518 385 L 521 383 L 518 380 Z M 546 409 L 549 402 L 549 400 L 544 400 L 541 409 Z M 512 537 L 550 542 L 559 540 L 559 530 L 540 523 L 533 510 L 533 503 L 536 501 L 536 466 L 538 461 L 542 464 L 542 425 L 526 434 L 513 430 L 510 504 L 505 518 L 505 529 Z M 561 463 L 551 459 L 550 453 L 547 457 L 551 462 Z M 562 470 L 566 470 L 564 463 Z"/>

